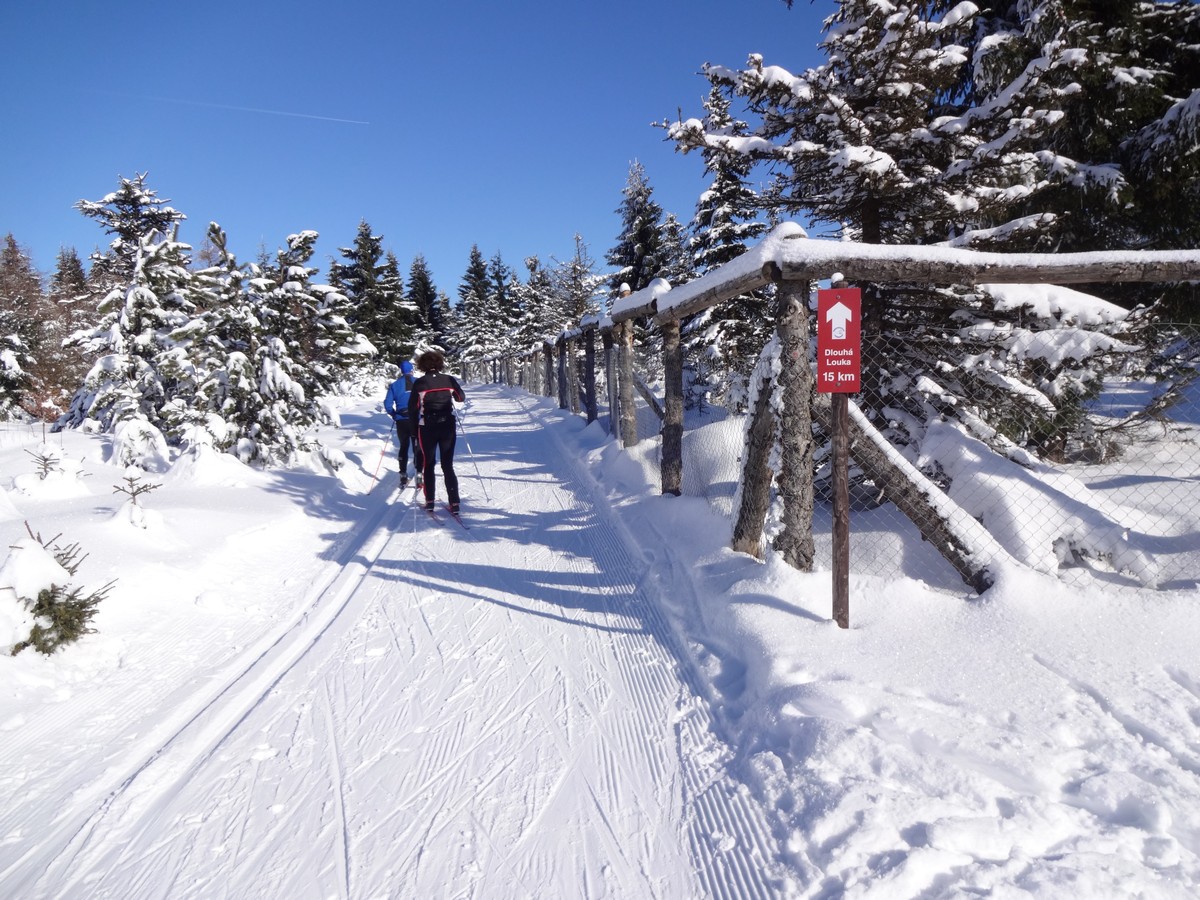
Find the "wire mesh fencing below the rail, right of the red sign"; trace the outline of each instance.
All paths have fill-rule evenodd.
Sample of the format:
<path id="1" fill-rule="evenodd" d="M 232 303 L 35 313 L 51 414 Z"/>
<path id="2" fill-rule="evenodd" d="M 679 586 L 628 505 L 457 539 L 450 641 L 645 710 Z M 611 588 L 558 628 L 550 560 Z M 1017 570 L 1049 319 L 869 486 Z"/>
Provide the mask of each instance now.
<path id="1" fill-rule="evenodd" d="M 1048 336 L 1039 354 L 1019 359 L 979 348 L 947 354 L 944 342 L 920 335 L 864 340 L 864 392 L 854 401 L 1020 563 L 1106 589 L 1194 588 L 1200 330 L 1147 325 L 1093 341 L 1076 359 L 1078 338 Z M 814 528 L 818 562 L 828 564 L 822 456 Z M 908 521 L 880 487 L 852 469 L 851 571 L 953 584 L 953 568 L 922 540 L 928 523 Z"/>

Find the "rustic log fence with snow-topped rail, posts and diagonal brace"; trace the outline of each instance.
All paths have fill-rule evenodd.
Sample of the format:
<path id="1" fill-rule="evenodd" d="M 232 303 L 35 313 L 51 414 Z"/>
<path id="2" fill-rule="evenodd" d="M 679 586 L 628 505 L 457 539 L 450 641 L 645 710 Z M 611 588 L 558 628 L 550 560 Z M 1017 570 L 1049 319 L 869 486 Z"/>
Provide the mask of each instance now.
<path id="1" fill-rule="evenodd" d="M 816 281 L 839 277 L 872 283 L 929 284 L 1068 284 L 1097 282 L 1186 282 L 1200 281 L 1200 251 L 1128 251 L 1104 253 L 982 253 L 968 250 L 923 246 L 875 246 L 808 239 L 797 226 L 780 226 L 762 244 L 738 259 L 677 288 L 655 281 L 643 290 L 618 299 L 608 317 L 589 317 L 565 331 L 554 342 L 534 348 L 520 356 L 472 360 L 464 365 L 467 377 L 499 380 L 523 386 L 544 396 L 557 391 L 560 408 L 583 413 L 588 421 L 599 418 L 598 385 L 606 389 L 608 424 L 624 446 L 638 440 L 635 394 L 654 409 L 661 420 L 662 492 L 678 494 L 683 482 L 683 353 L 680 322 L 716 304 L 750 290 L 774 284 L 776 288 L 775 334 L 778 372 L 760 365 L 752 385 L 757 400 L 750 410 L 748 444 L 743 458 L 738 505 L 733 510 L 734 550 L 761 556 L 763 527 L 768 512 L 770 486 L 774 482 L 782 499 L 781 530 L 774 541 L 776 551 L 793 566 L 811 571 L 814 541 L 814 424 L 821 430 L 828 416 L 828 403 L 814 391 L 810 360 L 810 305 Z M 661 404 L 634 371 L 634 324 L 653 319 L 662 335 L 665 373 Z M 596 337 L 601 341 L 598 361 Z M 580 365 L 580 347 L 583 365 Z M 868 361 L 864 359 L 864 362 Z M 778 394 L 781 401 L 772 403 Z M 1194 437 L 1194 436 L 1193 436 Z M 773 448 L 779 448 L 780 472 L 773 473 Z M 869 418 L 852 407 L 851 457 L 878 492 L 916 526 L 954 568 L 967 584 L 986 589 L 994 581 L 995 566 L 1012 557 L 1012 545 L 1002 546 L 980 524 L 978 503 L 972 499 L 971 480 L 994 479 L 985 467 L 966 467 L 948 494 L 912 466 Z M 970 456 L 970 452 L 967 452 Z M 1192 474 L 1196 460 L 1190 460 Z M 1030 468 L 1049 469 L 1044 463 Z M 1054 481 L 1062 473 L 1042 472 L 1039 484 Z M 1088 514 L 1088 496 L 1080 500 L 1067 491 L 1069 510 L 1060 523 L 1069 534 L 1051 541 L 1058 562 L 1067 557 L 1085 557 L 1088 552 L 1106 556 L 1114 564 L 1133 572 L 1142 583 L 1163 583 L 1147 559 L 1153 540 L 1133 541 L 1128 536 L 1128 517 L 1094 511 Z M 1045 494 L 1030 490 L 1031 497 L 1045 503 Z M 846 498 L 834 498 L 846 503 Z M 1061 505 L 1061 504 L 1060 504 Z M 1184 545 L 1200 539 L 1192 532 L 1176 534 Z M 1122 530 L 1124 532 L 1122 536 Z M 1177 529 L 1176 529 L 1177 530 Z M 1097 538 L 1104 532 L 1103 538 Z M 1021 562 L 1045 568 L 1034 554 L 1018 554 Z"/>

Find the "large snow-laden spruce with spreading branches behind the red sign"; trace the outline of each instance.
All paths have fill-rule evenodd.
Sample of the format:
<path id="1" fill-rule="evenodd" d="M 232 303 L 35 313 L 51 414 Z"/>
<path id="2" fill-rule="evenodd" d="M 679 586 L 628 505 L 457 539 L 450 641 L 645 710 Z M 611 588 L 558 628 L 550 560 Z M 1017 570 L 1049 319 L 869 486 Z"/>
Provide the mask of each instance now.
<path id="1" fill-rule="evenodd" d="M 800 76 L 758 58 L 742 72 L 709 67 L 714 85 L 757 116 L 749 134 L 709 132 L 698 120 L 672 133 L 684 149 L 766 161 L 780 204 L 865 242 L 1042 247 L 1058 218 L 1039 198 L 1096 185 L 1115 197 L 1114 172 L 1052 143 L 1072 92 L 1063 82 L 1086 54 L 1049 41 L 1033 55 L 1026 35 L 1045 4 L 1032 13 L 1033 4 L 1009 6 L 1015 22 L 984 18 L 970 2 L 844 0 L 827 20 L 824 65 Z M 947 414 L 991 421 L 1051 452 L 1045 436 L 1074 419 L 1096 384 L 1090 372 L 1120 348 L 1078 334 L 1118 330 L 1108 314 L 1081 325 L 974 286 L 863 287 L 864 402 L 901 443 L 919 443 L 924 422 Z M 1030 337 L 1058 329 L 1058 340 Z M 1027 352 L 1052 344 L 1072 349 Z"/>

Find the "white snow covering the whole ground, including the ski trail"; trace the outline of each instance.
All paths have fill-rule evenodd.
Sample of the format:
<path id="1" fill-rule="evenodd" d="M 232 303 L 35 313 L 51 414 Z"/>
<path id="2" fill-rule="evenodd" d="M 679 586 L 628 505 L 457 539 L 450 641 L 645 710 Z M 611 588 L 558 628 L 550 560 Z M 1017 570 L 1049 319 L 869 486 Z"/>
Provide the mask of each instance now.
<path id="1" fill-rule="evenodd" d="M 852 574 L 840 630 L 828 572 L 727 550 L 737 422 L 672 498 L 655 442 L 468 395 L 470 532 L 392 490 L 383 385 L 336 473 L 202 454 L 138 509 L 104 438 L 0 432 L 7 545 L 116 580 L 0 656 L 0 895 L 1200 890 L 1200 590 Z"/>

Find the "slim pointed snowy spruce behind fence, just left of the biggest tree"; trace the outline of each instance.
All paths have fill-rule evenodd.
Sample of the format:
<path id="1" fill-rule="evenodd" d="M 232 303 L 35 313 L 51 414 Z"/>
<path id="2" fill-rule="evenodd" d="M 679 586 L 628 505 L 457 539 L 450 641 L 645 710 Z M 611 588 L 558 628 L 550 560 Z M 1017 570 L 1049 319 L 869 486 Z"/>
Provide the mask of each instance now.
<path id="1" fill-rule="evenodd" d="M 728 97 L 719 88 L 709 92 L 704 108 L 707 132 L 734 137 L 746 133 L 746 124 L 730 114 Z M 737 259 L 768 228 L 760 217 L 761 200 L 748 184 L 752 162 L 724 148 L 703 148 L 702 154 L 712 182 L 696 203 L 690 227 L 688 248 L 697 275 Z M 769 293 L 743 294 L 684 323 L 685 365 L 692 373 L 692 392 L 707 388 L 716 402 L 736 412 L 745 409 L 750 372 L 774 328 Z"/>

